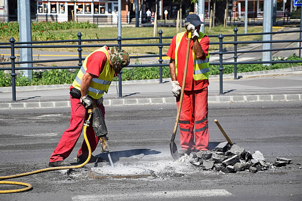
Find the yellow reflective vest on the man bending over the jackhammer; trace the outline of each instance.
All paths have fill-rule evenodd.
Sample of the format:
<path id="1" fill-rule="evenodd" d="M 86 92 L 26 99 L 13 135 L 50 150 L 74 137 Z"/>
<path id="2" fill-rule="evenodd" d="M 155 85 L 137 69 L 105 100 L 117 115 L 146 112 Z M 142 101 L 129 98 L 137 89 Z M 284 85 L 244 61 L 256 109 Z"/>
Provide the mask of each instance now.
<path id="1" fill-rule="evenodd" d="M 104 67 L 103 71 L 101 72 L 101 74 L 99 75 L 99 77 L 92 78 L 90 86 L 88 88 L 87 94 L 94 99 L 100 99 L 103 96 L 104 92 L 105 93 L 108 92 L 109 86 L 110 86 L 111 81 L 113 80 L 113 76 L 114 76 L 114 70 L 112 67 L 110 67 L 108 52 L 105 47 L 106 47 L 106 45 L 93 51 L 85 58 L 83 65 L 80 68 L 80 70 L 78 71 L 78 73 L 76 75 L 76 79 L 73 82 L 73 86 L 76 89 L 81 90 L 81 80 L 82 80 L 84 73 L 87 70 L 86 63 L 87 63 L 88 58 L 95 52 L 98 52 L 98 51 L 104 52 L 107 57 L 105 67 Z"/>

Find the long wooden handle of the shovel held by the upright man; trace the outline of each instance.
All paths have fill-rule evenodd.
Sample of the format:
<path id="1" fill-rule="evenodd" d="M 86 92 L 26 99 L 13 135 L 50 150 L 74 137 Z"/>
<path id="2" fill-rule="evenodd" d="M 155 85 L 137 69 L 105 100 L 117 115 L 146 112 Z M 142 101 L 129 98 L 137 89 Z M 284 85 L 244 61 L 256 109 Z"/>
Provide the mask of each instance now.
<path id="1" fill-rule="evenodd" d="M 181 97 L 180 97 L 180 100 L 179 100 L 179 105 L 178 105 L 174 130 L 173 130 L 173 134 L 172 134 L 172 137 L 171 137 L 171 142 L 174 142 L 174 140 L 175 140 L 175 135 L 176 135 L 176 131 L 177 131 L 177 125 L 178 125 L 178 121 L 179 121 L 179 117 L 180 117 L 180 112 L 182 110 L 182 104 L 183 104 L 183 98 L 184 98 L 184 92 L 185 92 L 185 85 L 186 85 L 186 78 L 187 78 L 188 62 L 189 62 L 190 43 L 191 43 L 191 32 L 188 33 L 187 55 L 186 55 L 186 64 L 185 64 L 185 69 L 184 69 L 182 91 L 181 91 Z"/>

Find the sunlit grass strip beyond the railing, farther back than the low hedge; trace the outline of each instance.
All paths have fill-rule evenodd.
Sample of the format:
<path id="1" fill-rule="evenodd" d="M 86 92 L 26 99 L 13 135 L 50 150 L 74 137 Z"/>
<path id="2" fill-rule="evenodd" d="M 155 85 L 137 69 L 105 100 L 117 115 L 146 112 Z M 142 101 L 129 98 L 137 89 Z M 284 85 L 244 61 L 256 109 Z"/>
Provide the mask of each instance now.
<path id="1" fill-rule="evenodd" d="M 205 27 L 205 33 L 207 35 L 218 35 L 223 34 L 233 34 L 234 26 L 229 26 L 224 28 L 223 26 L 217 26 L 209 30 Z M 273 31 L 278 31 L 279 28 L 273 28 Z M 158 27 L 158 31 L 163 31 L 163 36 L 173 36 L 176 34 L 175 27 Z M 263 30 L 262 26 L 249 27 L 249 33 L 261 33 Z M 185 31 L 185 28 L 182 28 Z M 117 37 L 117 27 L 104 27 L 97 28 L 96 24 L 85 23 L 75 23 L 75 22 L 32 22 L 32 39 L 33 41 L 44 41 L 44 40 L 68 40 L 77 39 L 76 34 L 82 33 L 82 39 L 104 39 L 104 38 L 116 38 Z M 244 28 L 238 27 L 238 33 L 244 33 Z M 9 38 L 13 36 L 16 41 L 19 40 L 19 24 L 18 22 L 8 22 L 0 23 L 0 42 L 8 42 Z M 123 27 L 122 28 L 122 38 L 128 37 L 153 37 L 153 27 Z M 249 40 L 261 40 L 262 35 L 250 35 L 250 36 L 238 36 L 238 41 L 249 41 Z M 170 43 L 172 39 L 163 39 L 163 43 Z M 225 37 L 224 41 L 232 41 L 233 37 Z M 218 37 L 210 37 L 210 42 L 218 42 Z M 158 43 L 158 39 L 148 39 L 148 40 L 125 40 L 122 44 L 133 44 L 133 43 Z M 62 43 L 60 43 L 62 44 Z M 76 43 L 64 43 L 64 44 L 76 44 Z M 104 42 L 82 42 L 85 44 L 99 44 L 100 46 L 104 44 L 117 44 L 117 41 L 104 41 Z M 59 45 L 53 44 L 53 45 Z M 224 47 L 231 47 L 232 45 L 224 45 Z M 242 45 L 238 45 L 242 46 Z M 163 47 L 163 53 L 168 51 L 169 46 Z M 217 50 L 218 45 L 210 45 L 210 51 Z M 82 48 L 83 52 L 92 52 L 96 48 Z M 123 47 L 126 51 L 131 54 L 158 54 L 158 47 Z M 36 48 L 35 50 L 44 51 L 77 51 L 77 48 Z"/>

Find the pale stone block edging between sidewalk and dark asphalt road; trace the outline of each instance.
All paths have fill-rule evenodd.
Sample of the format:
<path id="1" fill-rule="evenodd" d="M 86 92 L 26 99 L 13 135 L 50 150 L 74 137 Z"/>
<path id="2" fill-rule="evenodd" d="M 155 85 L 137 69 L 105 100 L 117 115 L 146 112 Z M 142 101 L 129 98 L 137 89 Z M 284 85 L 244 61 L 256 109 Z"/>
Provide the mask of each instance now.
<path id="1" fill-rule="evenodd" d="M 209 103 L 220 102 L 261 102 L 261 101 L 291 101 L 302 100 L 302 94 L 284 95 L 244 95 L 244 96 L 209 96 Z M 104 100 L 105 106 L 112 105 L 144 105 L 144 104 L 175 104 L 175 98 L 143 98 L 143 99 L 110 99 Z M 16 102 L 0 103 L 1 109 L 35 109 L 35 108 L 58 108 L 70 107 L 70 101 L 48 101 L 48 102 Z"/>

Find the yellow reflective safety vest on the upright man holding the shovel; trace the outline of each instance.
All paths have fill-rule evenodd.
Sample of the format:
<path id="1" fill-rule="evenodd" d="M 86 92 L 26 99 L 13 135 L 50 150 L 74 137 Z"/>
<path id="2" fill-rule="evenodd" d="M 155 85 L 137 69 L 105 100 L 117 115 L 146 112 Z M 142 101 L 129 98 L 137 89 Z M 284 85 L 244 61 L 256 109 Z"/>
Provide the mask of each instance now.
<path id="1" fill-rule="evenodd" d="M 181 43 L 181 40 L 186 32 L 177 33 L 176 35 L 176 47 L 175 47 L 175 70 L 176 70 L 176 76 L 177 76 L 177 53 L 178 48 Z M 200 42 L 201 38 L 205 36 L 204 33 L 199 32 L 198 42 Z M 192 49 L 193 53 L 193 64 L 194 64 L 194 71 L 193 71 L 193 79 L 194 80 L 204 80 L 209 79 L 209 60 L 210 60 L 210 54 L 206 56 L 205 60 L 197 59 L 194 48 Z"/>

